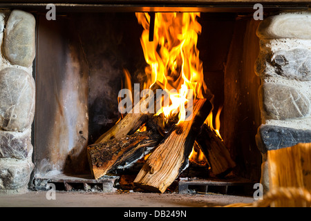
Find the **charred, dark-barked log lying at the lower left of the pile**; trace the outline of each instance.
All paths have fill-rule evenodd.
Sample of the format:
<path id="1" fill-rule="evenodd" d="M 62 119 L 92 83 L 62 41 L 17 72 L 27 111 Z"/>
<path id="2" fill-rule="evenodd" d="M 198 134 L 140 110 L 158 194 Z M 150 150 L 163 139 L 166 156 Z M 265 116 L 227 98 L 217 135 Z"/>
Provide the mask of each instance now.
<path id="1" fill-rule="evenodd" d="M 160 140 L 162 136 L 157 133 L 144 131 L 88 146 L 88 162 L 93 177 L 97 180 L 113 169 L 131 166 L 157 146 Z"/>

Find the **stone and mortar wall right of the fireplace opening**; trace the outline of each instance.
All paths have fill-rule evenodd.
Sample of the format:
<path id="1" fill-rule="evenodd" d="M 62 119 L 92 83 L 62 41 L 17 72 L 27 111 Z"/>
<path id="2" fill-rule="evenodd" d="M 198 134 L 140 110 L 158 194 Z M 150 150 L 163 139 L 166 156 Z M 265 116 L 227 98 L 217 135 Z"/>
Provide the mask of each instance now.
<path id="1" fill-rule="evenodd" d="M 263 124 L 256 142 L 263 155 L 261 182 L 269 187 L 267 151 L 311 142 L 311 13 L 268 17 L 256 31 L 261 51 L 258 97 Z"/>

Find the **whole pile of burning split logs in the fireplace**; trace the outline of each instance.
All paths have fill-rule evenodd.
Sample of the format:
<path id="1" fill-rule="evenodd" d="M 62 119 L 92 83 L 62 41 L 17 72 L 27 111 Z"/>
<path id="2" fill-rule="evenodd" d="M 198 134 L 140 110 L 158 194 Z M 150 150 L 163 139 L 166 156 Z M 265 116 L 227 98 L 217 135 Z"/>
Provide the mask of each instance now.
<path id="1" fill-rule="evenodd" d="M 204 124 L 212 108 L 208 99 L 196 99 L 191 119 L 179 124 L 176 124 L 177 114 L 165 120 L 162 114 L 128 113 L 95 144 L 88 146 L 88 161 L 93 176 L 99 179 L 150 154 L 134 184 L 163 193 L 189 165 L 194 142 L 207 157 L 213 173 L 226 175 L 235 164 L 222 140 Z M 146 126 L 147 131 L 140 132 L 142 126 Z"/>

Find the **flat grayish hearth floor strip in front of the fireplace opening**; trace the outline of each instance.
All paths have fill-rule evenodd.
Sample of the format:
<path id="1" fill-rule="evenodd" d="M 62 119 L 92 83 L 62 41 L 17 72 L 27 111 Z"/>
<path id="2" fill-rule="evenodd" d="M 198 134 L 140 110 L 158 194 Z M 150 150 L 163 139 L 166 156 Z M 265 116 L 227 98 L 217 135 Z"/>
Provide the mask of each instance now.
<path id="1" fill-rule="evenodd" d="M 56 191 L 55 200 L 48 200 L 47 193 L 47 191 L 29 191 L 15 195 L 0 194 L 0 207 L 211 207 L 254 201 L 252 197 L 216 193 L 90 193 L 83 191 Z"/>

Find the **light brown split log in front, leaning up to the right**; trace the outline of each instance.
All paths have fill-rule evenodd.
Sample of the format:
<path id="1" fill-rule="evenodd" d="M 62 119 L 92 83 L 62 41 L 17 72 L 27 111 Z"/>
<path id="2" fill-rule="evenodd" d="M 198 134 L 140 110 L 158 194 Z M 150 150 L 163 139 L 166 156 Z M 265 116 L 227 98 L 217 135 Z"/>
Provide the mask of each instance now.
<path id="1" fill-rule="evenodd" d="M 151 153 L 134 184 L 142 189 L 163 193 L 187 168 L 194 141 L 211 108 L 207 99 L 196 100 L 193 117 L 173 127 L 171 133 Z"/>

